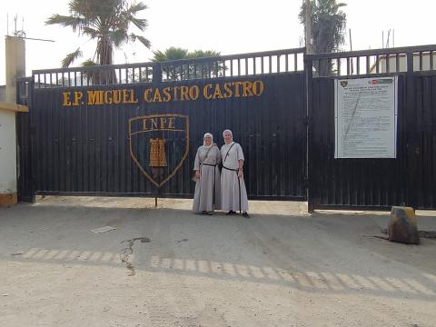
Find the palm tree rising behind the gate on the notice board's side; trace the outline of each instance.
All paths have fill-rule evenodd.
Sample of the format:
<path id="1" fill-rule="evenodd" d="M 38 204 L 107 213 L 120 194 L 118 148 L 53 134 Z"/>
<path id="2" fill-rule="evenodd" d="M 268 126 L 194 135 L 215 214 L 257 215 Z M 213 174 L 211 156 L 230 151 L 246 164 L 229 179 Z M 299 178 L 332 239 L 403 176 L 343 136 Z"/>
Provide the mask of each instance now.
<path id="1" fill-rule="evenodd" d="M 336 3 L 336 0 L 311 0 L 312 16 L 312 44 L 315 54 L 326 54 L 338 51 L 345 43 L 346 15 L 341 7 L 346 4 Z M 305 25 L 305 10 L 303 3 L 298 17 Z M 315 67 L 316 68 L 316 67 Z M 331 61 L 322 61 L 318 69 L 320 74 L 328 74 L 332 71 Z"/>

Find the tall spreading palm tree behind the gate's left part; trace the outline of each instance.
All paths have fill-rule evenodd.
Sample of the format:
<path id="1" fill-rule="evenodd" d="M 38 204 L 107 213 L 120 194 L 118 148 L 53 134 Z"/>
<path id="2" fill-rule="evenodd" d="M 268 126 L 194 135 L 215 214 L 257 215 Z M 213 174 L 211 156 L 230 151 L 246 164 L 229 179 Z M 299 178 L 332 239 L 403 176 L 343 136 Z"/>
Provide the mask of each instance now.
<path id="1" fill-rule="evenodd" d="M 129 0 L 71 0 L 68 4 L 70 15 L 52 15 L 45 24 L 71 27 L 79 35 L 85 35 L 97 41 L 94 60 L 90 64 L 113 64 L 114 49 L 122 45 L 140 41 L 150 48 L 150 41 L 142 35 L 129 34 L 130 25 L 134 25 L 141 32 L 147 27 L 147 20 L 137 18 L 136 15 L 147 8 L 142 2 L 130 3 Z M 67 54 L 62 61 L 62 67 L 68 67 L 82 51 L 77 48 Z"/>

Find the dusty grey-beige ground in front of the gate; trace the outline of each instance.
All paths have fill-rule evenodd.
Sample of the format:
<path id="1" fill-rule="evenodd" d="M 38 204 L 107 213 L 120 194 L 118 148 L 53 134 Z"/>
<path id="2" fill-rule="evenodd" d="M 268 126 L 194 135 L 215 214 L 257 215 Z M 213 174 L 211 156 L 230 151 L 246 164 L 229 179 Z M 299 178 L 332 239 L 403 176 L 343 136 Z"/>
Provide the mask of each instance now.
<path id="1" fill-rule="evenodd" d="M 190 206 L 47 197 L 0 208 L 0 325 L 436 326 L 436 241 L 372 237 L 388 213 L 250 202 L 246 220 Z M 104 226 L 115 230 L 91 232 Z"/>

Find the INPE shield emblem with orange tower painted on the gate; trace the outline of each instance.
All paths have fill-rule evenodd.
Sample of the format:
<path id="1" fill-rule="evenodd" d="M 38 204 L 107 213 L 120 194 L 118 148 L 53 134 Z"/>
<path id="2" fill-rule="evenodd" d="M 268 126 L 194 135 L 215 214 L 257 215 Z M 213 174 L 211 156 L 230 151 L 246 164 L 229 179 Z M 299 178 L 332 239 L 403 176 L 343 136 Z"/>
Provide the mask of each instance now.
<path id="1" fill-rule="evenodd" d="M 157 188 L 182 167 L 189 152 L 189 117 L 151 114 L 129 119 L 132 160 Z"/>

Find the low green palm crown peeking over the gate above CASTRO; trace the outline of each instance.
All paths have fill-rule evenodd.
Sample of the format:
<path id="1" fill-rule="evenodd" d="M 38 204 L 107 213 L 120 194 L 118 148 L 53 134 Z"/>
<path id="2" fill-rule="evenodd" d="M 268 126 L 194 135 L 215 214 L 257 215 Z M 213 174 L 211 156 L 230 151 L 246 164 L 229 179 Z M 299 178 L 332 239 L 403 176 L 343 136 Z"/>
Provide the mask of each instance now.
<path id="1" fill-rule="evenodd" d="M 220 64 L 219 60 L 216 60 L 216 57 L 219 57 L 220 53 L 213 50 L 194 50 L 193 52 L 189 52 L 187 49 L 172 46 L 164 51 L 154 51 L 153 54 L 154 57 L 152 61 L 154 63 L 180 59 L 215 57 L 215 59 L 204 61 L 202 64 L 198 65 L 186 64 L 186 69 L 183 68 L 183 65 L 170 66 L 168 69 L 163 70 L 167 80 L 179 80 L 183 75 L 187 76 L 188 73 L 191 78 L 218 77 L 219 74 L 223 73 L 224 69 L 224 65 Z"/>

